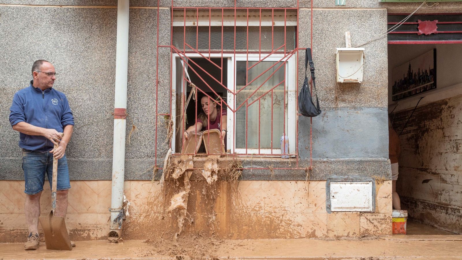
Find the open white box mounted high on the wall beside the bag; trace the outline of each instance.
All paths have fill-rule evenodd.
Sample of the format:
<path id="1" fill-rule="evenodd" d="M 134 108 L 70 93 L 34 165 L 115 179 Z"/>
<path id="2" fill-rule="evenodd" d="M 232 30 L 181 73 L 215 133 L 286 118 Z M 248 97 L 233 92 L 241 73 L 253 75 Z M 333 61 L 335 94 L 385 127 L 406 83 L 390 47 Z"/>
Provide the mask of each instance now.
<path id="1" fill-rule="evenodd" d="M 364 48 L 337 48 L 337 82 L 361 83 L 363 81 Z"/>

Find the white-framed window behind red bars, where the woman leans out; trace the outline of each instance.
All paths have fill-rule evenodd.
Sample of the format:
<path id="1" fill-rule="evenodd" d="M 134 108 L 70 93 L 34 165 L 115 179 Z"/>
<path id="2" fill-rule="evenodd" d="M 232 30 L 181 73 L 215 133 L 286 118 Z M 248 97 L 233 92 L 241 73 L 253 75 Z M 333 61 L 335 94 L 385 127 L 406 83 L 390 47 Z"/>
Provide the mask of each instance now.
<path id="1" fill-rule="evenodd" d="M 195 125 L 205 96 L 211 102 L 204 110 L 215 100 L 226 113 L 226 152 L 296 155 L 298 9 L 172 10 L 173 151 L 181 151 L 182 133 Z M 288 152 L 280 140 L 288 142 Z"/>

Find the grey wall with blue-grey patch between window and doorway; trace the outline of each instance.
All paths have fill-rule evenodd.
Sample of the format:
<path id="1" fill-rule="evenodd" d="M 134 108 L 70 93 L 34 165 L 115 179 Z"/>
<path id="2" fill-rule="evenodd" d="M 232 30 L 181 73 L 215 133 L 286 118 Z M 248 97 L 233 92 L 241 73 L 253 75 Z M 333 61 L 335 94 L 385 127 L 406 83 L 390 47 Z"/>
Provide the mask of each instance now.
<path id="1" fill-rule="evenodd" d="M 299 45 L 310 47 L 310 9 L 299 13 Z M 335 21 L 335 26 L 332 23 Z M 343 174 L 381 176 L 390 179 L 388 135 L 386 129 L 387 43 L 382 38 L 365 47 L 364 81 L 335 83 L 335 48 L 345 47 L 345 31 L 352 35 L 352 46 L 365 43 L 386 31 L 384 9 L 315 9 L 313 12 L 313 60 L 316 88 L 322 114 L 313 118 L 313 158 L 316 163 L 335 161 Z M 367 24 L 367 28 L 357 26 Z M 299 57 L 303 57 L 303 51 Z M 304 60 L 299 59 L 299 82 L 303 82 Z M 310 118 L 299 116 L 298 149 L 300 158 L 310 157 Z M 375 170 L 371 169 L 381 165 Z M 361 170 L 357 170 L 360 166 Z M 317 166 L 315 165 L 315 168 Z M 314 172 L 332 174 L 320 167 Z"/>

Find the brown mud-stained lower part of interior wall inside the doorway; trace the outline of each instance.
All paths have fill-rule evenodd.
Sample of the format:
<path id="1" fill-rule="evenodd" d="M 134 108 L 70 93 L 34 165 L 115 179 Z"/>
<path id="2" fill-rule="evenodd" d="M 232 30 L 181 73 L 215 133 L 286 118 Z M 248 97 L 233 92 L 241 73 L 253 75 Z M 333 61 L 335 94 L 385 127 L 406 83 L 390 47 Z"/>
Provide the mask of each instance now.
<path id="1" fill-rule="evenodd" d="M 412 110 L 395 114 L 398 134 Z M 419 106 L 400 141 L 401 207 L 420 222 L 462 234 L 462 95 Z"/>

